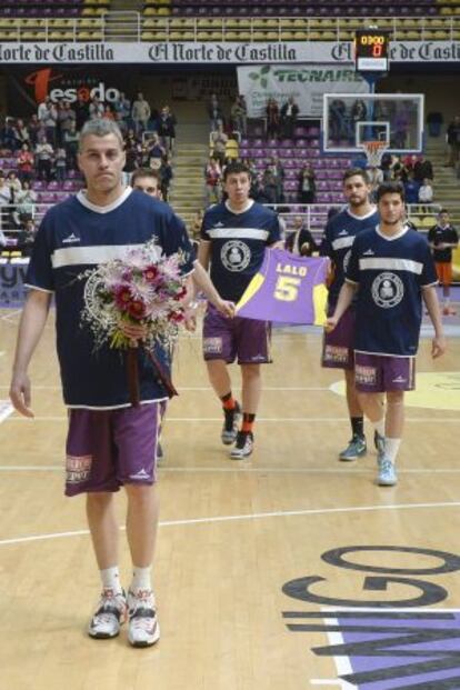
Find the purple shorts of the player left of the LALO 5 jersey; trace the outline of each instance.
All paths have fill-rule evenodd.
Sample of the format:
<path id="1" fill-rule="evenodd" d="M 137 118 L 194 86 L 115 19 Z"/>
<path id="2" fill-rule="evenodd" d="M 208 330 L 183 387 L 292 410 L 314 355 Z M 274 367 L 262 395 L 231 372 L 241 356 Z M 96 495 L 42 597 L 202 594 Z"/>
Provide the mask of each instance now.
<path id="1" fill-rule="evenodd" d="M 234 317 L 228 319 L 208 304 L 203 321 L 203 357 L 223 359 L 228 364 L 238 357 L 239 364 L 266 364 L 270 357 L 269 321 Z"/>

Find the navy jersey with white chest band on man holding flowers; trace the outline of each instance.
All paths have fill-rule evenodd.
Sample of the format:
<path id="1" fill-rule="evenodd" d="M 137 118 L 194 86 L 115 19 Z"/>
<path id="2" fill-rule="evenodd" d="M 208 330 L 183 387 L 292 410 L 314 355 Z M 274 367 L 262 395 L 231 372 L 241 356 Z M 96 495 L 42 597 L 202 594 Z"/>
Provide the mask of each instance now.
<path id="1" fill-rule="evenodd" d="M 90 329 L 81 324 L 86 281 L 79 277 L 153 237 L 166 254 L 181 249 L 183 272 L 192 270 L 192 250 L 182 221 L 167 203 L 130 188 L 109 207 L 94 207 L 80 192 L 51 208 L 41 222 L 26 282 L 54 292 L 58 357 L 69 407 L 130 404 L 123 354 L 109 347 L 94 349 Z M 168 366 L 168 356 L 160 348 L 157 357 Z M 166 391 L 154 380 L 152 364 L 142 351 L 139 380 L 142 402 L 164 399 Z"/>

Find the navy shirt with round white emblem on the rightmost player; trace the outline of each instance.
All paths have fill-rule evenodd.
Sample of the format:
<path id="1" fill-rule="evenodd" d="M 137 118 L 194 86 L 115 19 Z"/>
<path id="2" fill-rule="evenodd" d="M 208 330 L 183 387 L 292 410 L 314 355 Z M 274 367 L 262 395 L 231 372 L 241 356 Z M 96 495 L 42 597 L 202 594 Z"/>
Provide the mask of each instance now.
<path id="1" fill-rule="evenodd" d="M 354 240 L 347 281 L 358 283 L 354 349 L 413 357 L 419 347 L 421 290 L 437 283 L 424 237 L 403 228 L 393 238 L 377 227 Z"/>

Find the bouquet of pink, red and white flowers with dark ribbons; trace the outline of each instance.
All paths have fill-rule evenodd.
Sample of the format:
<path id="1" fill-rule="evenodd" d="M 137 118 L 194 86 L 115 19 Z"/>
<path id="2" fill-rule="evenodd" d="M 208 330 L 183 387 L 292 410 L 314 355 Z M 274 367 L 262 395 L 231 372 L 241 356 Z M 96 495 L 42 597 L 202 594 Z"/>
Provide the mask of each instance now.
<path id="1" fill-rule="evenodd" d="M 96 348 L 126 351 L 130 401 L 139 404 L 138 341 L 127 327 L 142 327 L 142 347 L 170 397 L 177 394 L 168 374 L 153 353 L 156 343 L 172 351 L 178 326 L 184 320 L 182 300 L 187 294 L 181 266 L 182 252 L 169 257 L 154 240 L 84 271 L 82 323 L 89 326 Z"/>

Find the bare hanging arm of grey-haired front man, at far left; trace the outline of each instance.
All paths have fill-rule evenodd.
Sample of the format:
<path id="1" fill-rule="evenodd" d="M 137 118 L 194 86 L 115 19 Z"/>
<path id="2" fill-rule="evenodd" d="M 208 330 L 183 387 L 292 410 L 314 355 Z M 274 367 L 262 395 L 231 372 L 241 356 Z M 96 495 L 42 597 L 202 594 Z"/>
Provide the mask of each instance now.
<path id="1" fill-rule="evenodd" d="M 27 370 L 43 332 L 50 302 L 50 292 L 31 290 L 28 294 L 19 323 L 10 386 L 10 399 L 14 409 L 24 417 L 33 417 L 33 412 L 30 409 L 31 390 Z"/>

